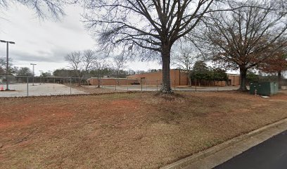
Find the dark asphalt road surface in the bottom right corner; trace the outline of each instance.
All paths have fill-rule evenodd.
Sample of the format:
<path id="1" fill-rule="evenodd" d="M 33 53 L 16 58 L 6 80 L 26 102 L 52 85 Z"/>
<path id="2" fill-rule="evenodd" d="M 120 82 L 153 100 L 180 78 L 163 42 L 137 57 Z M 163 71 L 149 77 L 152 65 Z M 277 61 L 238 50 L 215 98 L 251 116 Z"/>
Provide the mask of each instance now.
<path id="1" fill-rule="evenodd" d="M 286 169 L 287 130 L 213 169 Z"/>

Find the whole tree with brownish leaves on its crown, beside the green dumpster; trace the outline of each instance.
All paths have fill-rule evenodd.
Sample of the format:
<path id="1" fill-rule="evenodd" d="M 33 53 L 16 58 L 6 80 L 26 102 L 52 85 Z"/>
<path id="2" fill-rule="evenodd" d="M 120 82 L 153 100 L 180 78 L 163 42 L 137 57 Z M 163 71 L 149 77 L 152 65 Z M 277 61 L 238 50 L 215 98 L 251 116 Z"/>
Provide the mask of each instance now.
<path id="1" fill-rule="evenodd" d="M 265 1 L 260 4 L 248 1 L 249 7 L 211 13 L 205 20 L 203 35 L 193 35 L 205 42 L 205 49 L 210 51 L 213 61 L 226 68 L 240 70 L 239 90 L 247 90 L 247 70 L 256 68 L 287 44 L 287 11 L 277 2 Z M 229 4 L 236 5 L 241 6 Z M 281 45 L 272 47 L 278 41 L 282 42 Z"/>

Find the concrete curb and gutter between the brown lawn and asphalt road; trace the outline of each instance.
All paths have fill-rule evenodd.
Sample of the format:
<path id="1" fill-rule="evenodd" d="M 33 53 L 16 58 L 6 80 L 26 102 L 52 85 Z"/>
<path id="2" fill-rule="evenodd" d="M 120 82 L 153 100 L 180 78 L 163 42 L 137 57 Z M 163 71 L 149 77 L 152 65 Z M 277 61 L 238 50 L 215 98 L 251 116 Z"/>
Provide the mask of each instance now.
<path id="1" fill-rule="evenodd" d="M 223 163 L 224 161 L 227 161 L 230 158 L 238 155 L 238 153 L 241 153 L 242 151 L 238 151 L 237 149 L 236 153 L 224 156 L 225 159 L 219 159 L 215 162 L 212 162 L 212 164 L 210 165 L 205 165 L 205 166 L 198 165 L 198 167 L 193 167 L 193 164 L 198 163 L 198 161 L 202 161 L 202 163 L 207 163 L 208 159 L 205 159 L 205 158 L 208 158 L 210 156 L 216 157 L 219 151 L 224 151 L 224 150 L 230 151 L 230 149 L 234 149 L 234 146 L 236 146 L 236 144 L 241 144 L 241 146 L 243 145 L 244 150 L 250 149 L 251 147 L 257 144 L 260 144 L 261 142 L 264 142 L 266 139 L 269 139 L 270 137 L 273 137 L 274 135 L 279 134 L 280 132 L 283 132 L 285 130 L 287 130 L 287 118 L 276 121 L 275 123 L 272 123 L 269 125 L 265 125 L 264 127 L 261 127 L 257 130 L 253 130 L 252 132 L 248 132 L 247 134 L 243 134 L 233 139 L 229 139 L 227 142 L 223 142 L 222 144 L 218 144 L 217 146 L 212 146 L 210 149 L 206 149 L 205 151 L 200 151 L 196 154 L 183 158 L 177 162 L 171 163 L 170 165 L 165 165 L 164 167 L 160 169 L 213 168 L 216 165 L 219 165 Z M 262 137 L 262 135 L 264 137 Z M 244 143 L 248 142 L 248 139 L 253 139 L 251 140 L 253 144 L 245 145 Z"/>

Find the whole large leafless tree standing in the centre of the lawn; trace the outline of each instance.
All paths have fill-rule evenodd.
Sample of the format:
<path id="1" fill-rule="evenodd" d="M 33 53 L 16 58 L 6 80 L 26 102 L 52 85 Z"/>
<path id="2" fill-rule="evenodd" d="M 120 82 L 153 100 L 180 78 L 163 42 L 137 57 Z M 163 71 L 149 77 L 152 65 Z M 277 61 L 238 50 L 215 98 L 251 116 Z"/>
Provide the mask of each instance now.
<path id="1" fill-rule="evenodd" d="M 162 60 L 162 89 L 170 93 L 170 50 L 193 30 L 217 0 L 86 0 L 84 22 L 108 51 L 117 47 Z"/>

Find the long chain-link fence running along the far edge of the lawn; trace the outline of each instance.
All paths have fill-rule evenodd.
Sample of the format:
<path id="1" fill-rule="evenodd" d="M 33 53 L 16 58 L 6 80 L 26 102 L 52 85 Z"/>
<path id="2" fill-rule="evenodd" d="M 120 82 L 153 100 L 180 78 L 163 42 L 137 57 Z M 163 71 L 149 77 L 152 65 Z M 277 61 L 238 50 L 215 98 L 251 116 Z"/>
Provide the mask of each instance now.
<path id="1" fill-rule="evenodd" d="M 174 80 L 172 90 L 185 92 L 227 91 L 238 86 L 183 86 Z M 287 80 L 282 80 L 287 89 Z M 0 75 L 0 96 L 49 96 L 65 94 L 89 94 L 105 92 L 156 92 L 162 87 L 161 80 L 129 78 L 82 78 L 82 77 L 28 77 Z"/>

